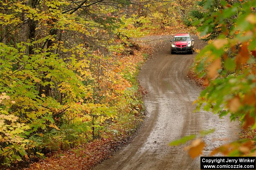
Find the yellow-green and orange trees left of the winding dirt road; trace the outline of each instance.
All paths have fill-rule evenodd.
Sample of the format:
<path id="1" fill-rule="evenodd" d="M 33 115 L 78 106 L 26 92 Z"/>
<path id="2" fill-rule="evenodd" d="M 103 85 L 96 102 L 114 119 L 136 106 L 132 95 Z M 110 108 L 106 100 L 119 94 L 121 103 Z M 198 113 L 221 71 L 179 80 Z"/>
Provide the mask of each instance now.
<path id="1" fill-rule="evenodd" d="M 129 38 L 143 32 L 127 29 L 134 19 L 121 4 L 0 4 L 1 166 L 81 145 L 140 113 L 135 77 L 145 58 L 130 54 L 139 47 Z"/>

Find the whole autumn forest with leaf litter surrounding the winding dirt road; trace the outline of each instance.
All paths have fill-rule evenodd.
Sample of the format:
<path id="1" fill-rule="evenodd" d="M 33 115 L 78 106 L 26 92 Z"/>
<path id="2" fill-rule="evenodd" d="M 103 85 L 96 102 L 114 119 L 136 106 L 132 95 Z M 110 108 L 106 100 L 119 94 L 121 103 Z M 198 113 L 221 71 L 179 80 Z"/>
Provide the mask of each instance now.
<path id="1" fill-rule="evenodd" d="M 179 32 L 206 43 L 189 66 L 204 88 L 191 108 L 239 122 L 239 139 L 210 155 L 256 156 L 255 0 L 0 0 L 0 8 L 0 169 L 92 169 L 111 157 L 150 115 L 152 92 L 138 75 L 160 41 L 140 38 Z M 168 148 L 186 144 L 198 157 L 214 128 Z"/>

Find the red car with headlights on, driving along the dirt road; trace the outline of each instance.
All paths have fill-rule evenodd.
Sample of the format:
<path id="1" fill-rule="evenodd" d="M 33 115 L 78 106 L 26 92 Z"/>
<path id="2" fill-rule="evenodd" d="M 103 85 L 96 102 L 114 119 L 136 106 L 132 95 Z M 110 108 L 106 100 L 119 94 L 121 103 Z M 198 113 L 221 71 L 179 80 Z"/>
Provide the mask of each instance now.
<path id="1" fill-rule="evenodd" d="M 189 33 L 178 33 L 174 36 L 171 42 L 171 54 L 175 52 L 194 52 L 194 39 Z"/>

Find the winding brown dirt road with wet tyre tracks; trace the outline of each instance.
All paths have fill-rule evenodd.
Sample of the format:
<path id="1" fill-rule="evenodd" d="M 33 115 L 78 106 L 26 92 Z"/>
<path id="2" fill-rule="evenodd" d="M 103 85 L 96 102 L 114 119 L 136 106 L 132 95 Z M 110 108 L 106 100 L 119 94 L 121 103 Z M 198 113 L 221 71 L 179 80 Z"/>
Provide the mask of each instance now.
<path id="1" fill-rule="evenodd" d="M 170 54 L 171 36 L 150 36 L 139 41 L 155 46 L 139 73 L 139 83 L 148 90 L 145 106 L 148 112 L 144 125 L 129 145 L 117 151 L 95 170 L 198 170 L 200 160 L 192 160 L 183 146 L 169 147 L 168 143 L 200 130 L 215 128 L 204 138 L 208 155 L 213 147 L 238 139 L 237 122 L 219 119 L 208 112 L 193 113 L 193 101 L 201 88 L 188 79 L 187 73 L 194 55 Z M 195 48 L 206 43 L 195 38 Z M 231 140 L 230 140 L 231 139 Z M 221 140 L 221 141 L 220 141 Z"/>

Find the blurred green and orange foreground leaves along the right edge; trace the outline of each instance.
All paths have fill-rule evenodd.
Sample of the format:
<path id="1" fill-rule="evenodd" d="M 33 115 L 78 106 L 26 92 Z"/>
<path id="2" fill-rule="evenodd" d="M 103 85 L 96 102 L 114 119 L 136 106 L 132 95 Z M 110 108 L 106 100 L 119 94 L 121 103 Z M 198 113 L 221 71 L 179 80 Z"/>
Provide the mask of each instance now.
<path id="1" fill-rule="evenodd" d="M 203 108 L 220 118 L 230 115 L 231 121 L 239 118 L 244 129 L 255 129 L 256 1 L 220 3 L 221 9 L 206 14 L 199 28 L 201 35 L 211 34 L 217 27 L 219 33 L 196 56 L 196 71 L 207 86 L 198 97 L 197 110 Z M 212 1 L 207 1 L 204 8 L 211 5 Z M 254 144 L 255 140 L 249 139 L 235 141 L 216 148 L 211 155 L 255 156 Z"/>

